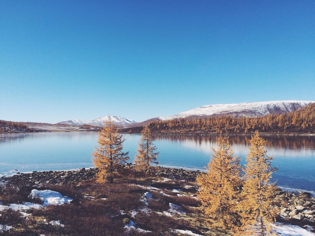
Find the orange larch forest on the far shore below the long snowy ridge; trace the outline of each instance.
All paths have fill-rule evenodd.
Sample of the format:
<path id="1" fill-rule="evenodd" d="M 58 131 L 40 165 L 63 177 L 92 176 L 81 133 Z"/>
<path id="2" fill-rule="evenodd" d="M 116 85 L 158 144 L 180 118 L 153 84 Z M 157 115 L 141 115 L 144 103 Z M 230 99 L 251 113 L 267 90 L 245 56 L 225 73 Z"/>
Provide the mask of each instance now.
<path id="1" fill-rule="evenodd" d="M 247 134 L 255 130 L 262 133 L 314 133 L 315 103 L 299 110 L 261 117 L 235 117 L 231 115 L 180 118 L 148 123 L 152 132 L 172 134 Z M 122 131 L 138 132 L 140 127 Z"/>

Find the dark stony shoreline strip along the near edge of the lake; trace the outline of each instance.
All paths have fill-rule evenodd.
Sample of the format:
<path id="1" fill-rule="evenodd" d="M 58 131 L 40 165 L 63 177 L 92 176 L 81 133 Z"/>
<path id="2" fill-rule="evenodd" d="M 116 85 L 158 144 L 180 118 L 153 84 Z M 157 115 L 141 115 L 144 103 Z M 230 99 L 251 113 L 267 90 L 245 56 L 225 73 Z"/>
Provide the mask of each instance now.
<path id="1" fill-rule="evenodd" d="M 132 163 L 125 168 L 133 168 Z M 17 173 L 13 176 L 2 177 L 2 182 L 24 184 L 30 186 L 42 184 L 77 185 L 81 181 L 95 177 L 96 168 L 78 169 L 76 171 L 33 171 L 31 173 Z M 200 171 L 190 171 L 157 166 L 152 171 L 154 174 L 170 179 L 182 179 L 194 182 Z M 289 193 L 278 189 L 274 200 L 280 205 L 280 217 L 286 221 L 300 222 L 315 226 L 315 197 L 308 192 L 298 194 Z"/>

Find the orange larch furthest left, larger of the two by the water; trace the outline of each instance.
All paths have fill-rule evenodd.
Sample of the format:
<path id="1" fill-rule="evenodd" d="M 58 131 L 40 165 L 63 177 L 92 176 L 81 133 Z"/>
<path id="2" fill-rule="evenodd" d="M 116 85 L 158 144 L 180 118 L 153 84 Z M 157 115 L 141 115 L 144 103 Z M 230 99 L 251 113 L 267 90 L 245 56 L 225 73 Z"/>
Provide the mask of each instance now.
<path id="1" fill-rule="evenodd" d="M 113 183 L 114 177 L 122 174 L 123 164 L 129 160 L 129 152 L 122 151 L 123 141 L 125 140 L 118 133 L 115 123 L 106 121 L 99 131 L 99 146 L 92 153 L 92 161 L 98 168 L 97 183 Z"/>

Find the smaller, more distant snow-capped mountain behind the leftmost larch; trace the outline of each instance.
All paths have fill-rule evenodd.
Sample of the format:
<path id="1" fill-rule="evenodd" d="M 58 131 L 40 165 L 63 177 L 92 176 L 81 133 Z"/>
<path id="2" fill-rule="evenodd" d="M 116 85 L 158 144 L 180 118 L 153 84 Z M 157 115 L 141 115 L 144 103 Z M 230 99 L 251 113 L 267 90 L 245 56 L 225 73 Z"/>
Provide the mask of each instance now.
<path id="1" fill-rule="evenodd" d="M 137 123 L 136 121 L 128 120 L 122 116 L 110 115 L 110 116 L 103 116 L 92 121 L 81 121 L 81 120 L 74 119 L 70 121 L 61 121 L 57 124 L 104 126 L 105 122 L 108 121 L 109 118 L 111 118 L 112 122 L 114 122 L 117 126 Z"/>

